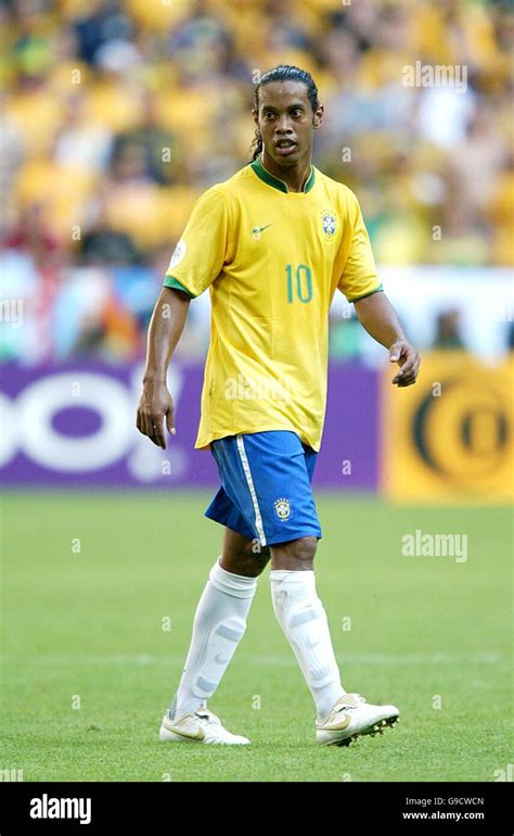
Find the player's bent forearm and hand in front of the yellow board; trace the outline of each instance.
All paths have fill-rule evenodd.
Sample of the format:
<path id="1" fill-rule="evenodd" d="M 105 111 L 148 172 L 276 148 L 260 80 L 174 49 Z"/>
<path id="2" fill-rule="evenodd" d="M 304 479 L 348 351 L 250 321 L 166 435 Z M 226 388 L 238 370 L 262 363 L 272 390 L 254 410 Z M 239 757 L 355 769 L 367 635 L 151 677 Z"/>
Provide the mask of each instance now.
<path id="1" fill-rule="evenodd" d="M 393 378 L 399 387 L 415 383 L 420 355 L 407 340 L 395 308 L 383 291 L 355 302 L 360 324 L 376 342 L 389 350 L 389 359 L 400 366 Z"/>

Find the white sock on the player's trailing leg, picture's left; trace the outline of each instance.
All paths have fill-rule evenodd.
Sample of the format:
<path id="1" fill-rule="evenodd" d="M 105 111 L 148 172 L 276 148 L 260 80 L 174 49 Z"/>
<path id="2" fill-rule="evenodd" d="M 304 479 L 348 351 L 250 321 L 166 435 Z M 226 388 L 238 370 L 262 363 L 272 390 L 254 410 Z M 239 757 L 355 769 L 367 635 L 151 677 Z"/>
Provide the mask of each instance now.
<path id="1" fill-rule="evenodd" d="M 206 707 L 246 631 L 257 578 L 228 572 L 219 561 L 196 607 L 185 668 L 170 707 L 174 719 Z"/>

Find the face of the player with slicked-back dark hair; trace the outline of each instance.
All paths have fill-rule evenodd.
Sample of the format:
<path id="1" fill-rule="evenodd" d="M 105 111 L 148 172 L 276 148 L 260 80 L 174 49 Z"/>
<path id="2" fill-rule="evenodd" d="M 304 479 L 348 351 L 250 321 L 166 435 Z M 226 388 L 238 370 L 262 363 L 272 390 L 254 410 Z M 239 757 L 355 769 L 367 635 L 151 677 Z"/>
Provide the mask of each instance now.
<path id="1" fill-rule="evenodd" d="M 312 153 L 312 130 L 323 107 L 316 113 L 301 81 L 271 81 L 259 90 L 259 110 L 254 121 L 260 129 L 266 153 L 280 166 L 297 165 Z"/>

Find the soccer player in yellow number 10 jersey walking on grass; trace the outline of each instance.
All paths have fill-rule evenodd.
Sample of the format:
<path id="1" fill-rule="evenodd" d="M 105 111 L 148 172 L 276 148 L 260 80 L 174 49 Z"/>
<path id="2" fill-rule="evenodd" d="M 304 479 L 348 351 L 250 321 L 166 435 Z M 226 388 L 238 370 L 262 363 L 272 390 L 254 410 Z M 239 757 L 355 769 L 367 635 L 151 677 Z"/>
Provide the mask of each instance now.
<path id="1" fill-rule="evenodd" d="M 271 598 L 316 705 L 321 745 L 349 745 L 394 725 L 395 706 L 347 693 L 313 558 L 321 528 L 311 491 L 325 411 L 329 308 L 336 290 L 389 351 L 398 387 L 419 356 L 376 276 L 355 194 L 311 164 L 323 106 L 312 77 L 293 66 L 255 89 L 253 162 L 196 202 L 177 244 L 149 330 L 138 429 L 166 448 L 175 434 L 166 387 L 191 299 L 207 288 L 210 346 L 195 446 L 210 448 L 221 486 L 205 511 L 224 525 L 194 617 L 177 693 L 159 738 L 248 744 L 207 708 L 243 638 L 257 577 L 271 560 Z"/>

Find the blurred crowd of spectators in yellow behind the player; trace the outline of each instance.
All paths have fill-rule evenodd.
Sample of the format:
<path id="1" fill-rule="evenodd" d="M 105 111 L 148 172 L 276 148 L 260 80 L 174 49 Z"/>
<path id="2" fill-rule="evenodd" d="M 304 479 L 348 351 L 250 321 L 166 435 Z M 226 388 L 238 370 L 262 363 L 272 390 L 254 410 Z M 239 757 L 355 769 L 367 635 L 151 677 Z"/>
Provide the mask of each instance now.
<path id="1" fill-rule="evenodd" d="M 248 161 L 279 63 L 317 80 L 314 164 L 357 192 L 380 264 L 512 264 L 506 2 L 1 0 L 0 28 L 1 295 L 24 312 L 3 359 L 142 355 L 190 210 Z M 465 86 L 406 86 L 416 62 Z"/>

